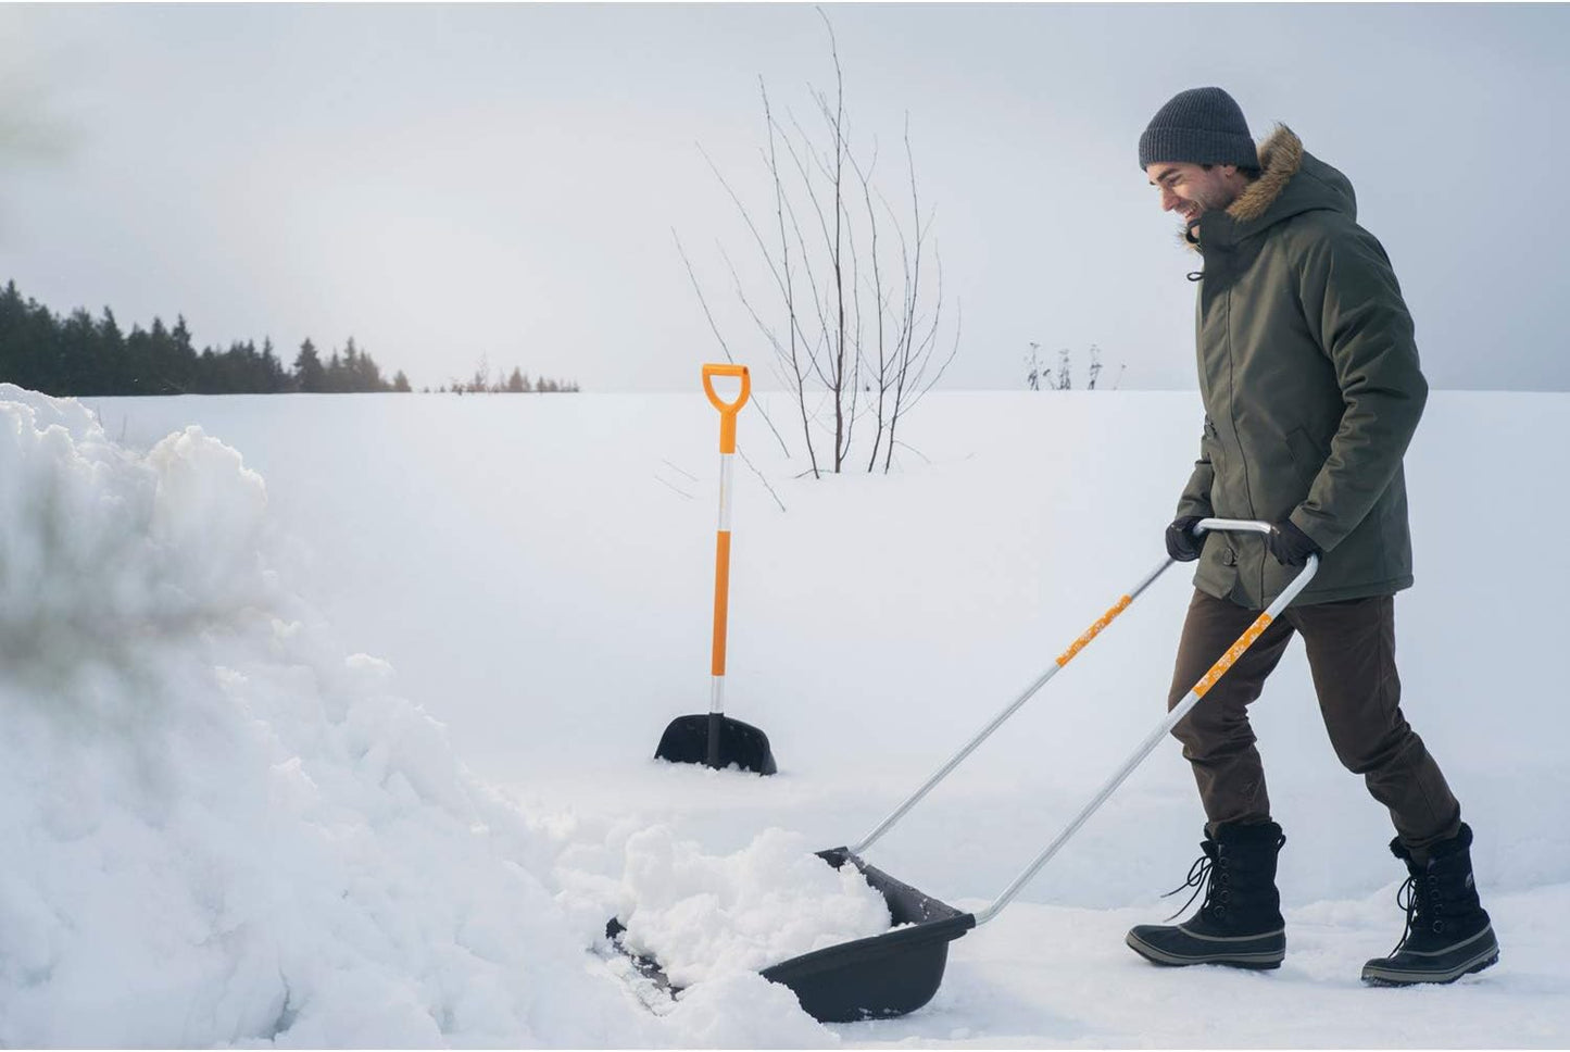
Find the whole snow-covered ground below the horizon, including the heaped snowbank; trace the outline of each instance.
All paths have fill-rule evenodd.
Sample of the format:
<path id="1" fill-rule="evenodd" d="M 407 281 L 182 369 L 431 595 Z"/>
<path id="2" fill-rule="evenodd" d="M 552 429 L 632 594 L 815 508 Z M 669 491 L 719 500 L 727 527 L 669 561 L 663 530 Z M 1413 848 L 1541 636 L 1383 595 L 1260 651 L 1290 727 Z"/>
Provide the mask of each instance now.
<path id="1" fill-rule="evenodd" d="M 1254 716 L 1278 972 L 1123 945 L 1198 856 L 1176 743 L 904 1019 L 820 1025 L 716 942 L 876 923 L 799 859 L 1159 562 L 1199 419 L 1192 393 L 940 394 L 893 474 L 812 480 L 749 407 L 727 697 L 761 779 L 652 760 L 708 707 L 702 394 L 0 388 L 0 1046 L 1570 1044 L 1564 394 L 1437 393 L 1407 460 L 1405 711 L 1477 832 L 1496 967 L 1358 981 L 1404 871 L 1300 647 Z M 1160 719 L 1188 592 L 1170 570 L 868 860 L 986 906 Z M 633 906 L 711 966 L 659 1011 L 600 956 Z"/>

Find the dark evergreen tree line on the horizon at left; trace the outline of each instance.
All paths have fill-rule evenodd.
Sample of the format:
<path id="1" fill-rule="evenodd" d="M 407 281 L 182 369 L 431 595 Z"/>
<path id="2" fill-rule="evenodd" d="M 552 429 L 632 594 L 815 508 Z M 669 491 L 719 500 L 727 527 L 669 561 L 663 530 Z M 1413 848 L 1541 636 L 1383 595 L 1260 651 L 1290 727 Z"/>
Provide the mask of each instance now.
<path id="1" fill-rule="evenodd" d="M 369 352 L 349 338 L 325 360 L 308 338 L 292 366 L 284 366 L 272 339 L 234 341 L 228 349 L 192 342 L 185 317 L 168 327 L 154 317 L 151 328 L 126 333 L 115 312 L 93 317 L 83 308 L 58 316 L 36 300 L 22 298 L 16 281 L 0 290 L 0 383 L 14 383 L 52 396 L 122 394 L 350 394 L 410 391 L 399 369 L 388 380 Z M 507 383 L 452 389 L 576 391 L 576 383 L 531 383 L 520 371 Z M 443 386 L 443 391 L 447 388 Z M 429 391 L 429 388 L 427 388 Z"/>

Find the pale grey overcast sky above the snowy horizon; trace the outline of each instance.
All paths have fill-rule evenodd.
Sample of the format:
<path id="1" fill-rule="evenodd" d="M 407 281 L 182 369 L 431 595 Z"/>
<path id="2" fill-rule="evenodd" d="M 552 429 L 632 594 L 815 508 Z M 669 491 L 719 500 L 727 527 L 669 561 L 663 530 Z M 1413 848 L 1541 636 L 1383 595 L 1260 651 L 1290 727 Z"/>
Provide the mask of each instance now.
<path id="1" fill-rule="evenodd" d="M 1358 190 L 1433 386 L 1570 389 L 1570 6 L 826 8 L 854 141 L 936 207 L 945 386 L 1022 388 L 1031 341 L 1192 388 L 1193 268 L 1135 143 L 1221 85 Z M 353 334 L 416 386 L 493 367 L 696 389 L 738 358 L 719 247 L 766 210 L 758 77 L 812 118 L 805 5 L 0 6 L 0 279 L 286 363 Z"/>

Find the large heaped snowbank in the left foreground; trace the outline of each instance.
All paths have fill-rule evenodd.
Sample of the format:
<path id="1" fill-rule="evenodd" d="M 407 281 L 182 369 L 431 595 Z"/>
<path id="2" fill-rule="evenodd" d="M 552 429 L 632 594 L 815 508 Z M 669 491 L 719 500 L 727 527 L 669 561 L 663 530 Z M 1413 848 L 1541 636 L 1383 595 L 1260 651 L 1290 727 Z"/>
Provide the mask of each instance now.
<path id="1" fill-rule="evenodd" d="M 0 1046 L 827 1039 L 758 977 L 639 1008 L 267 506 L 201 429 L 0 386 Z"/>

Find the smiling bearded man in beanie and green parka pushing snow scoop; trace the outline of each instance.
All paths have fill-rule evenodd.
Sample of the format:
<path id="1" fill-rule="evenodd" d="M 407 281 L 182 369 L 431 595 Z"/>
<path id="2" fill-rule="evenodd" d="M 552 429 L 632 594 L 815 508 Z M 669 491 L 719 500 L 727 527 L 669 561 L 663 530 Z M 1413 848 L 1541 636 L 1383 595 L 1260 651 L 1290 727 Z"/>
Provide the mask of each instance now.
<path id="1" fill-rule="evenodd" d="M 1280 595 L 1309 554 L 1297 601 L 1173 735 L 1204 804 L 1185 887 L 1199 911 L 1140 925 L 1127 944 L 1159 964 L 1280 967 L 1286 955 L 1264 769 L 1248 727 L 1294 633 L 1341 762 L 1389 809 L 1405 862 L 1407 931 L 1369 983 L 1448 983 L 1499 956 L 1473 881 L 1471 829 L 1400 711 L 1394 601 L 1411 586 L 1402 455 L 1427 383 L 1411 317 L 1380 243 L 1356 225 L 1352 184 L 1278 126 L 1256 151 L 1220 88 L 1173 97 L 1140 137 L 1140 168 L 1204 261 L 1198 281 L 1199 460 L 1167 528 L 1173 559 L 1198 561 L 1168 708 Z M 1201 518 L 1261 534 L 1196 535 Z M 1192 901 L 1192 900 L 1190 900 Z"/>

